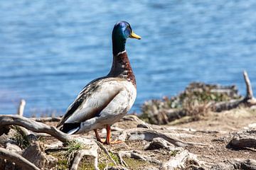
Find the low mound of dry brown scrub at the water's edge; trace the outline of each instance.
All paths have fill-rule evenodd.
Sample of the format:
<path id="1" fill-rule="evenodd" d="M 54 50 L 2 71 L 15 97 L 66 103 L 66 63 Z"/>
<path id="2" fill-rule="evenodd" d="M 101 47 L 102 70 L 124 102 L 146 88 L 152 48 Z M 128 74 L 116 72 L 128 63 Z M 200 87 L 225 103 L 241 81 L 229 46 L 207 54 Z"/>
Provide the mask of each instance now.
<path id="1" fill-rule="evenodd" d="M 142 105 L 139 118 L 151 124 L 166 124 L 189 115 L 199 120 L 201 115 L 210 111 L 210 104 L 241 98 L 235 86 L 219 86 L 215 84 L 191 83 L 186 89 L 171 98 L 154 99 Z M 166 116 L 168 115 L 168 116 Z"/>

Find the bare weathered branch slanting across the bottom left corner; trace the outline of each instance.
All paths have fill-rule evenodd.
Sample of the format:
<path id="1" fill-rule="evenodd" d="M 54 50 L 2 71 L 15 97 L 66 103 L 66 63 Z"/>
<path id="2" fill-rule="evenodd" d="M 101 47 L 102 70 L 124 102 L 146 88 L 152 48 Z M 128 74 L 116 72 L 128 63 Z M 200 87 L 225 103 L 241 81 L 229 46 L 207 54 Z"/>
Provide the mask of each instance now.
<path id="1" fill-rule="evenodd" d="M 21 169 L 28 169 L 28 170 L 40 170 L 34 164 L 29 162 L 27 159 L 21 157 L 21 155 L 16 154 L 15 152 L 10 152 L 7 149 L 0 147 L 0 158 L 7 159 L 10 162 L 14 162 L 16 165 L 20 166 Z"/>

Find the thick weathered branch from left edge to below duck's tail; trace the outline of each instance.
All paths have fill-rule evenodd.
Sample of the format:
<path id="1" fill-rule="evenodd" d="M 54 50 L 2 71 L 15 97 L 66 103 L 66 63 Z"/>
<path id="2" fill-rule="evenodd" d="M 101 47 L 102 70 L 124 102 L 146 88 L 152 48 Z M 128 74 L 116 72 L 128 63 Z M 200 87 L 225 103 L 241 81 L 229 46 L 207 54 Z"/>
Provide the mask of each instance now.
<path id="1" fill-rule="evenodd" d="M 24 118 L 19 115 L 0 115 L 0 128 L 6 125 L 19 125 L 33 132 L 47 133 L 61 142 L 71 142 L 74 140 L 73 137 L 61 132 L 53 126 L 38 123 L 34 120 Z"/>

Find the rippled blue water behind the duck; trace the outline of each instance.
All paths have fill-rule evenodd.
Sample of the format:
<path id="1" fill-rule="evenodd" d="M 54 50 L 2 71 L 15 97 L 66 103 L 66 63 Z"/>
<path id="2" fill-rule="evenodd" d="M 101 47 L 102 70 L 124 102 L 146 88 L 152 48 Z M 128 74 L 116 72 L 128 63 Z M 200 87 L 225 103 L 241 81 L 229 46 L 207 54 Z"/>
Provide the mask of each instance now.
<path id="1" fill-rule="evenodd" d="M 256 1 L 31 1 L 0 4 L 0 113 L 62 114 L 112 64 L 114 23 L 128 21 L 142 40 L 127 40 L 145 100 L 173 96 L 191 81 L 256 87 Z M 256 90 L 256 89 L 255 89 Z"/>

